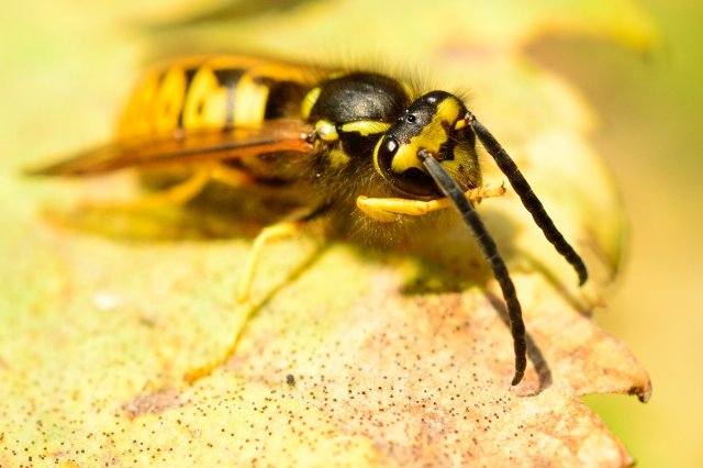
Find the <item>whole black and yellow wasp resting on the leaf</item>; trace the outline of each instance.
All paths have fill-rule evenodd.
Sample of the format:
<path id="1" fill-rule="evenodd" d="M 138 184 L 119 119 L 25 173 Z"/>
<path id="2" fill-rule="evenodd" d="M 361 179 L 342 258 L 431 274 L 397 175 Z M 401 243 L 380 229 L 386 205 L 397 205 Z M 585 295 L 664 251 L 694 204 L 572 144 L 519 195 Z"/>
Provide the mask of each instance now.
<path id="1" fill-rule="evenodd" d="M 181 203 L 212 181 L 284 188 L 281 197 L 298 193 L 306 210 L 264 229 L 254 241 L 242 297 L 248 294 L 264 245 L 325 213 L 343 225 L 364 218 L 382 230 L 454 208 L 501 287 L 514 344 L 515 386 L 527 364 L 525 325 L 510 272 L 473 207 L 500 194 L 482 186 L 479 143 L 583 285 L 588 272 L 581 257 L 465 102 L 442 90 L 421 92 L 378 73 L 237 56 L 167 63 L 134 91 L 114 143 L 32 172 L 93 176 L 123 168 L 175 168 L 187 177 L 153 197 Z"/>

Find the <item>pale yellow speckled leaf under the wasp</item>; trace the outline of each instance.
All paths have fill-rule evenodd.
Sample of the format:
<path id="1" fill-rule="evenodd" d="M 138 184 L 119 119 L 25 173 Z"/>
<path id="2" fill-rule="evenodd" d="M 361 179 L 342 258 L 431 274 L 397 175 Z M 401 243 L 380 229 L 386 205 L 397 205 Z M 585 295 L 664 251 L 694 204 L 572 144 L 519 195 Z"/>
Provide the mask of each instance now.
<path id="1" fill-rule="evenodd" d="M 641 48 L 652 32 L 633 3 L 607 2 L 605 15 L 604 2 L 427 11 L 309 1 L 214 25 L 182 22 L 156 38 L 127 24 L 161 13 L 130 4 L 88 8 L 80 20 L 14 5 L 18 20 L 4 29 L 14 47 L 2 90 L 12 105 L 0 114 L 0 466 L 632 464 L 579 399 L 650 391 L 626 346 L 590 319 L 620 263 L 617 190 L 588 143 L 596 122 L 588 104 L 521 51 L 554 31 Z M 164 8 L 168 22 L 197 12 Z M 389 22 L 399 8 L 403 21 Z M 433 33 L 413 34 L 419 24 Z M 450 90 L 470 87 L 471 108 L 592 272 L 579 290 L 514 194 L 480 205 L 525 312 L 524 382 L 510 388 L 500 291 L 461 225 L 419 242 L 435 261 L 304 236 L 280 242 L 242 305 L 234 288 L 250 238 L 214 235 L 221 226 L 210 218 L 174 207 L 82 229 L 56 215 L 137 188 L 129 175 L 26 180 L 19 167 L 107 137 L 142 52 L 164 44 L 172 53 L 174 37 L 201 52 L 228 43 L 299 59 L 339 49 L 358 62 L 373 51 L 399 67 L 422 64 Z M 127 231 L 140 235 L 120 235 Z M 211 375 L 183 382 L 239 333 Z"/>

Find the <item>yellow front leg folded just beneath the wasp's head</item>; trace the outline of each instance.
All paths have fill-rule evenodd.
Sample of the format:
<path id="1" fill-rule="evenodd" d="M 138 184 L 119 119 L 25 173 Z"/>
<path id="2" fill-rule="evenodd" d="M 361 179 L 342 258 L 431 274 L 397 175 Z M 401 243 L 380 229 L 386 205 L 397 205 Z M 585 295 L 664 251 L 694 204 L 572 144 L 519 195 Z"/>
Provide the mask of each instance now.
<path id="1" fill-rule="evenodd" d="M 505 193 L 505 187 L 478 187 L 467 190 L 464 194 L 467 200 L 477 202 L 484 198 L 500 197 Z M 399 214 L 411 216 L 422 216 L 432 211 L 444 210 L 451 207 L 451 202 L 447 198 L 437 200 L 409 200 L 404 198 L 368 198 L 360 196 L 356 199 L 356 205 L 367 216 L 381 221 L 383 223 L 392 223 L 398 221 Z"/>

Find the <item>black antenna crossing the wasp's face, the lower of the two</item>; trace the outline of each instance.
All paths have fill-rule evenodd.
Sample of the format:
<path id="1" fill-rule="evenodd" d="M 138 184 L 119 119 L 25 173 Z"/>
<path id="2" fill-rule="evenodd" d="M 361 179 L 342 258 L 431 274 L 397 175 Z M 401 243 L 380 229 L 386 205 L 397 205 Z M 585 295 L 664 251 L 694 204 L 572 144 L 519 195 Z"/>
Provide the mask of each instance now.
<path id="1" fill-rule="evenodd" d="M 498 283 L 501 286 L 503 298 L 507 305 L 510 332 L 513 336 L 513 346 L 515 348 L 515 375 L 511 385 L 516 386 L 523 379 L 525 368 L 527 367 L 527 345 L 525 342 L 523 311 L 520 307 L 517 293 L 515 292 L 515 285 L 513 285 L 513 280 L 510 278 L 510 272 L 507 271 L 505 261 L 503 261 L 503 258 L 499 254 L 495 241 L 493 241 L 493 237 L 489 234 L 486 225 L 473 209 L 473 205 L 471 205 L 471 203 L 466 199 L 466 196 L 457 182 L 447 174 L 437 159 L 435 159 L 434 155 L 426 149 L 421 149 L 417 152 L 417 158 L 425 166 L 429 176 L 433 178 L 437 187 L 439 187 L 439 190 L 442 190 L 442 192 L 451 200 L 454 207 L 457 209 L 461 218 L 464 218 L 466 224 L 471 229 L 473 236 L 481 248 L 481 253 L 490 264 L 491 269 L 493 270 L 493 276 L 495 276 Z"/>

